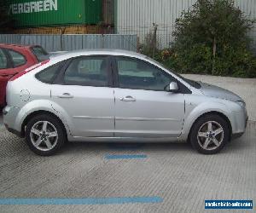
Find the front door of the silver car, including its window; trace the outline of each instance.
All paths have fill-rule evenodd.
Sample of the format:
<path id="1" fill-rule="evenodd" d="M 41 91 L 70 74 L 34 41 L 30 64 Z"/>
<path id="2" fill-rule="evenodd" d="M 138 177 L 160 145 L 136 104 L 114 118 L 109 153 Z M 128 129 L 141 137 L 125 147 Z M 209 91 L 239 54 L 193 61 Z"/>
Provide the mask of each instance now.
<path id="1" fill-rule="evenodd" d="M 144 60 L 115 56 L 115 136 L 172 138 L 181 134 L 184 95 L 166 91 L 170 74 Z"/>

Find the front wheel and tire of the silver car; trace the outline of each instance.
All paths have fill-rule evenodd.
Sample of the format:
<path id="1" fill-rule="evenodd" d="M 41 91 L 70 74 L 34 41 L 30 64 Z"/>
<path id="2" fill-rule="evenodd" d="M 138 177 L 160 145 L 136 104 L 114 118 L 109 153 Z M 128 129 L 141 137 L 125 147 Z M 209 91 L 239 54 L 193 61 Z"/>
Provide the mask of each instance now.
<path id="1" fill-rule="evenodd" d="M 226 120 L 217 114 L 199 118 L 190 130 L 189 141 L 199 153 L 219 153 L 230 139 Z"/>

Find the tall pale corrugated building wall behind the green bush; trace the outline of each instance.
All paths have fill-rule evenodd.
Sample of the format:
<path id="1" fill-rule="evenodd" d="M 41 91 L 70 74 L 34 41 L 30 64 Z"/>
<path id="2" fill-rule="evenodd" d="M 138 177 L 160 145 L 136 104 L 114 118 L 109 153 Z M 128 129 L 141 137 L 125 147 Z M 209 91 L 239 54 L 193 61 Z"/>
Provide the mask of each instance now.
<path id="1" fill-rule="evenodd" d="M 196 0 L 116 0 L 115 26 L 120 34 L 137 34 L 140 43 L 158 25 L 157 37 L 160 48 L 172 45 L 175 20 L 183 10 L 188 10 Z M 256 19 L 256 0 L 235 0 L 236 6 L 250 18 Z M 256 25 L 250 36 L 256 49 Z"/>

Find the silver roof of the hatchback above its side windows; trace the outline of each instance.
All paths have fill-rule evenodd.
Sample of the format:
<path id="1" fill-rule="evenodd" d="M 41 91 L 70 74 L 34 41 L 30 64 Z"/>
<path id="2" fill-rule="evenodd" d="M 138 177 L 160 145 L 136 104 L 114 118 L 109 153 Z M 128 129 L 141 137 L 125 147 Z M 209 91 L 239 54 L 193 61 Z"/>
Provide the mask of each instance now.
<path id="1" fill-rule="evenodd" d="M 58 55 L 53 55 L 53 59 L 61 60 L 63 58 L 73 58 L 82 55 L 123 55 L 137 58 L 147 58 L 146 55 L 142 55 L 136 52 L 123 50 L 123 49 L 80 49 L 74 51 L 63 52 Z"/>

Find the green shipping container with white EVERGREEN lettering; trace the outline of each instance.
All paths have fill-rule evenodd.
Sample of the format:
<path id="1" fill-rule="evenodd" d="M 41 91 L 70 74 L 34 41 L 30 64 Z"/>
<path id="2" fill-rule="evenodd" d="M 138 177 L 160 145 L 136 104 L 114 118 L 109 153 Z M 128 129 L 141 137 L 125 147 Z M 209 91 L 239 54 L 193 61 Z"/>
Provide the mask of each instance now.
<path id="1" fill-rule="evenodd" d="M 102 0 L 9 0 L 17 27 L 96 25 Z"/>

